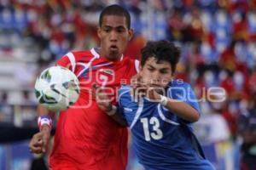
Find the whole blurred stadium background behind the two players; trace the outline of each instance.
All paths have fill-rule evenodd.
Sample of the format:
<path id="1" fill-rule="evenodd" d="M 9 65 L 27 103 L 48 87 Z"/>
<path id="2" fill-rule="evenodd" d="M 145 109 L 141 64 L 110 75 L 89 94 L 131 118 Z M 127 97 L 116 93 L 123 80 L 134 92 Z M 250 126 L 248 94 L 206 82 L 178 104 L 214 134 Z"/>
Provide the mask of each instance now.
<path id="1" fill-rule="evenodd" d="M 0 169 L 31 169 L 38 159 L 27 150 L 37 132 L 35 77 L 69 50 L 96 46 L 98 16 L 112 3 L 131 13 L 126 54 L 139 59 L 146 40 L 182 48 L 177 77 L 201 99 L 195 133 L 218 170 L 238 170 L 247 127 L 239 117 L 256 109 L 255 0 L 0 0 Z M 226 90 L 223 102 L 207 100 L 212 87 Z M 142 169 L 132 148 L 130 158 L 128 170 Z"/>

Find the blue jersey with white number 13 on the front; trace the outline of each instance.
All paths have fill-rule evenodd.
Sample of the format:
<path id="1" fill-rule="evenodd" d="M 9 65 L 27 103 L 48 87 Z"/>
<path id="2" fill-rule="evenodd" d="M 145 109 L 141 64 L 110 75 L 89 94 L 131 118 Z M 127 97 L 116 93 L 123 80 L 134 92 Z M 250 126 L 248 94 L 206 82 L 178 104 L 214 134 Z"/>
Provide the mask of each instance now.
<path id="1" fill-rule="evenodd" d="M 143 167 L 147 170 L 214 169 L 203 153 L 200 154 L 201 146 L 189 122 L 149 99 L 135 102 L 130 90 L 129 86 L 119 89 L 119 108 L 131 128 L 132 144 Z M 200 111 L 195 94 L 186 82 L 170 82 L 166 96 Z"/>

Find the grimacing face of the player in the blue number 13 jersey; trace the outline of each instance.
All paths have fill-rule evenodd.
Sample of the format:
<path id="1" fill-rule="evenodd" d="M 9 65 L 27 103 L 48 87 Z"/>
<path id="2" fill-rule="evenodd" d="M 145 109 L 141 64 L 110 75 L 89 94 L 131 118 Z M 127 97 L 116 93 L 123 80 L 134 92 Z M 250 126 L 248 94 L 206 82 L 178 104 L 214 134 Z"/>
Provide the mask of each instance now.
<path id="1" fill-rule="evenodd" d="M 172 81 L 172 67 L 167 61 L 157 62 L 154 57 L 148 58 L 141 67 L 142 81 L 154 88 L 166 88 Z"/>

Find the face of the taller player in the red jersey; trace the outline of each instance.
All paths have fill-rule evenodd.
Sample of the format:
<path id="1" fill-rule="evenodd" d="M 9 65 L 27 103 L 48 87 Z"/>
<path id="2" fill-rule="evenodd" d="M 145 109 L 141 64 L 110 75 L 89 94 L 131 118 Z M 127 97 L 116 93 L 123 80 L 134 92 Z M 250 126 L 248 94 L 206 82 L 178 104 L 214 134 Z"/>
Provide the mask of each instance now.
<path id="1" fill-rule="evenodd" d="M 108 59 L 119 59 L 132 35 L 133 31 L 128 29 L 124 16 L 103 16 L 102 26 L 98 28 L 98 36 L 101 38 L 100 54 Z"/>

